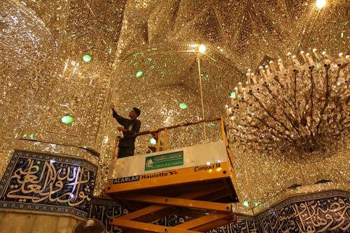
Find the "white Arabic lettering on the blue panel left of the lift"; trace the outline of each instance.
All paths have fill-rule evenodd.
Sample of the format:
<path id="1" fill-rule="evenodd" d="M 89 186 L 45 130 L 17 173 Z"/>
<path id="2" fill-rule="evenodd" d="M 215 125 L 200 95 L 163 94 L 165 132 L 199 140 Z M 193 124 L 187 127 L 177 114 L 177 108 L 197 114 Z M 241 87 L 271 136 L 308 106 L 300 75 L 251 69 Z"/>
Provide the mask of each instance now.
<path id="1" fill-rule="evenodd" d="M 16 185 L 12 185 L 15 189 L 11 188 L 6 197 L 31 200 L 34 204 L 49 200 L 69 206 L 90 201 L 89 193 L 85 194 L 84 190 L 80 190 L 83 183 L 90 181 L 90 171 L 85 172 L 85 167 L 74 166 L 73 170 L 69 166 L 59 167 L 57 171 L 55 165 L 47 160 L 42 169 L 36 163 L 37 160 L 28 158 L 27 162 L 25 169 L 18 168 L 10 177 L 10 181 L 15 181 Z"/>

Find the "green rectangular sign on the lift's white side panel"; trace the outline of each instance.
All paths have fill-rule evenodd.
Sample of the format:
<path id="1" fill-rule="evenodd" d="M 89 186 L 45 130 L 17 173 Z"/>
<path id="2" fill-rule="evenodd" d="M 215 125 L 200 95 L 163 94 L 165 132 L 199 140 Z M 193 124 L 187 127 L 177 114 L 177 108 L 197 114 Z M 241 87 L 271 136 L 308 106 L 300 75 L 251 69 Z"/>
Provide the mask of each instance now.
<path id="1" fill-rule="evenodd" d="M 183 151 L 176 151 L 172 153 L 164 153 L 158 156 L 146 157 L 145 171 L 181 165 L 183 165 Z"/>

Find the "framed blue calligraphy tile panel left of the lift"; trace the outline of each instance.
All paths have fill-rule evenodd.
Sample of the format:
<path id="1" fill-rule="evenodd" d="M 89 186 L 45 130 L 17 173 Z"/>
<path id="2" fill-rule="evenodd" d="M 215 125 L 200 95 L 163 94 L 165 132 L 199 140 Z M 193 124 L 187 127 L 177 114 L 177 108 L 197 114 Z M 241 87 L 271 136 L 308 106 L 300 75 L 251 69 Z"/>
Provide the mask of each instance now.
<path id="1" fill-rule="evenodd" d="M 0 208 L 87 218 L 96 172 L 80 158 L 15 151 L 0 181 Z"/>

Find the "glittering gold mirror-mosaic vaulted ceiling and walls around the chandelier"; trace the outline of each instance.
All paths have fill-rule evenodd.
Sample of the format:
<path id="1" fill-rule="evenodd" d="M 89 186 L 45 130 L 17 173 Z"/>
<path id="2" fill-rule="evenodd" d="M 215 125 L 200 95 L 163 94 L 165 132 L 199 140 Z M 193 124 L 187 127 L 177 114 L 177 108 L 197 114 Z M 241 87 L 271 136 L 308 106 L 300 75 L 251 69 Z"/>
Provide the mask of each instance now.
<path id="1" fill-rule="evenodd" d="M 201 79 L 204 117 L 219 117 L 248 68 L 314 47 L 349 54 L 345 0 L 322 9 L 300 0 L 5 0 L 0 6 L 1 162 L 7 164 L 19 138 L 90 146 L 102 153 L 96 194 L 116 137 L 111 102 L 120 114 L 141 107 L 141 130 L 194 121 L 203 117 Z M 73 123 L 62 123 L 66 115 Z M 202 128 L 188 128 L 172 142 L 202 142 L 198 135 Z M 139 140 L 139 153 L 146 141 Z M 50 143 L 26 146 L 80 155 Z M 327 168 L 330 161 L 299 165 L 234 153 L 239 197 L 251 207 L 296 182 L 350 177 L 341 156 Z M 297 167 L 300 174 L 290 176 Z"/>

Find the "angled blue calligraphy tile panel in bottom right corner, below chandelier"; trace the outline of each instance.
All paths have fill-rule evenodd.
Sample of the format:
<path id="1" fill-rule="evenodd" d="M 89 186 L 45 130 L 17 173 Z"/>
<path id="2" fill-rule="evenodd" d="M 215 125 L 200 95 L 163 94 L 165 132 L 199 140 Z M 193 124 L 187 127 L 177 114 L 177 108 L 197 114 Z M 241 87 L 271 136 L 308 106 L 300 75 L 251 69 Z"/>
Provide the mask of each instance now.
<path id="1" fill-rule="evenodd" d="M 349 192 L 291 197 L 256 216 L 260 232 L 349 232 Z"/>

